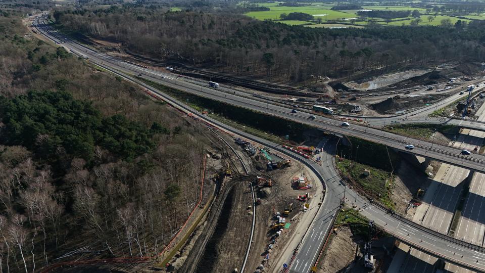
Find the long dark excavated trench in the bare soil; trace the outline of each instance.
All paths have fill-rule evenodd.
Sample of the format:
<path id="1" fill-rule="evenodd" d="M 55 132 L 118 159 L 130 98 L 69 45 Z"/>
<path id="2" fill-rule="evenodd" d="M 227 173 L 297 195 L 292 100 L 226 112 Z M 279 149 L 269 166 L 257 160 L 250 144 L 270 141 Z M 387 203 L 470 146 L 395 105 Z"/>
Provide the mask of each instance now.
<path id="1" fill-rule="evenodd" d="M 235 188 L 232 188 L 222 206 L 222 211 L 217 219 L 217 224 L 214 228 L 211 238 L 207 242 L 204 254 L 202 255 L 195 272 L 205 273 L 213 271 L 214 263 L 216 262 L 218 252 L 217 244 L 224 237 L 227 230 L 227 224 L 229 223 L 229 216 L 232 209 L 232 199 L 234 197 Z"/>

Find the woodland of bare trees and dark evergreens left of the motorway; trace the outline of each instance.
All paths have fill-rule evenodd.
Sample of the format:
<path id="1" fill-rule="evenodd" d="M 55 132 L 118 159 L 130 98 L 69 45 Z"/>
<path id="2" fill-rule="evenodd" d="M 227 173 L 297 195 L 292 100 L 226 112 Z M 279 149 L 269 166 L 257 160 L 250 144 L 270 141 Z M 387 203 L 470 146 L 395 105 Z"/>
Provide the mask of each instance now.
<path id="1" fill-rule="evenodd" d="M 199 198 L 205 130 L 18 17 L 0 30 L 0 271 L 159 253 Z"/>

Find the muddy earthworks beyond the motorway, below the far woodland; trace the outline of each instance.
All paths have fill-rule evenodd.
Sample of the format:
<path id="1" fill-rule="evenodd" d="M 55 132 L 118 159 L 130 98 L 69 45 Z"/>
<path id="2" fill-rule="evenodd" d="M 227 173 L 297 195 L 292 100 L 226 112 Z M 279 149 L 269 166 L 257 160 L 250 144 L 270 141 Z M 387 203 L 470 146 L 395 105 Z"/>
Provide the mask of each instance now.
<path id="1" fill-rule="evenodd" d="M 299 107 L 330 108 L 333 114 L 385 116 L 406 112 L 466 91 L 483 78 L 481 64 L 445 64 L 435 68 L 412 68 L 354 81 L 320 79 L 312 87 L 316 96 L 264 94 Z"/>

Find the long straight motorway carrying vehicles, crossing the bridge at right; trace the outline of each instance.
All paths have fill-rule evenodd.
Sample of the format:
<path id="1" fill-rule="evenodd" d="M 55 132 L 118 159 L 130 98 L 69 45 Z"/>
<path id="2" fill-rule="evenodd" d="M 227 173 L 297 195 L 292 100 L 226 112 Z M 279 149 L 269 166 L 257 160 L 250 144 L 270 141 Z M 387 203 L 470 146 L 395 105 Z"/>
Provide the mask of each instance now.
<path id="1" fill-rule="evenodd" d="M 48 27 L 43 26 L 43 28 L 47 29 Z M 119 72 L 127 73 L 128 75 L 141 74 L 141 77 L 143 78 L 161 83 L 169 87 L 183 89 L 183 91 L 187 93 L 195 94 L 198 96 L 221 101 L 239 107 L 249 108 L 287 120 L 305 123 L 317 128 L 321 128 L 326 132 L 334 133 L 336 135 L 355 136 L 357 138 L 361 138 L 367 141 L 392 147 L 402 152 L 416 154 L 422 157 L 442 161 L 457 166 L 463 166 L 471 170 L 476 170 L 478 172 L 485 172 L 485 155 L 483 154 L 473 153 L 469 156 L 465 156 L 460 154 L 461 149 L 453 146 L 432 144 L 429 141 L 411 139 L 406 136 L 401 136 L 376 128 L 365 127 L 357 124 L 352 124 L 351 127 L 344 127 L 341 126 L 341 121 L 323 116 L 316 116 L 315 119 L 310 119 L 309 114 L 306 112 L 299 111 L 297 113 L 291 113 L 291 108 L 254 100 L 254 97 L 249 96 L 248 94 L 243 94 L 236 91 L 228 94 L 227 90 L 224 89 L 224 87 L 210 88 L 208 86 L 199 85 L 200 82 L 193 79 L 176 79 L 174 78 L 173 74 L 164 74 L 156 70 L 150 70 L 148 68 L 143 68 L 131 63 L 124 62 L 117 58 L 113 58 L 105 54 L 93 51 L 72 40 L 66 40 L 62 37 L 57 38 L 56 35 L 60 34 L 51 34 L 51 32 L 54 33 L 54 30 L 50 29 L 48 33 L 53 40 L 62 43 L 65 48 L 69 49 L 76 55 L 83 56 L 85 58 L 87 57 L 92 63 L 103 64 Z M 42 33 L 46 34 L 45 31 Z M 406 150 L 404 149 L 404 147 L 407 144 L 412 144 L 416 148 L 412 151 Z"/>

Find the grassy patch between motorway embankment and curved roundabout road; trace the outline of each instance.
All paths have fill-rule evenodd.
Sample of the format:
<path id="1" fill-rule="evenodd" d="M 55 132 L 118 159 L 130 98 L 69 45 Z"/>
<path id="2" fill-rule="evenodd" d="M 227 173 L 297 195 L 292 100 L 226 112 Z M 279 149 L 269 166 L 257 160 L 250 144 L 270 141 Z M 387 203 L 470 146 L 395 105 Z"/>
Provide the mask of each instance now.
<path id="1" fill-rule="evenodd" d="M 348 159 L 337 161 L 337 168 L 344 177 L 353 181 L 359 190 L 364 191 L 365 196 L 372 196 L 379 200 L 385 207 L 395 209 L 391 199 L 391 189 L 394 186 L 394 177 L 391 172 L 377 169 L 368 165 L 360 164 Z M 364 170 L 369 170 L 369 176 L 364 176 Z"/>

